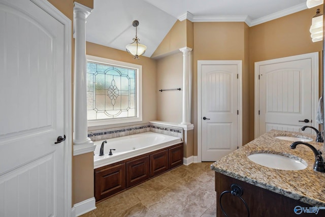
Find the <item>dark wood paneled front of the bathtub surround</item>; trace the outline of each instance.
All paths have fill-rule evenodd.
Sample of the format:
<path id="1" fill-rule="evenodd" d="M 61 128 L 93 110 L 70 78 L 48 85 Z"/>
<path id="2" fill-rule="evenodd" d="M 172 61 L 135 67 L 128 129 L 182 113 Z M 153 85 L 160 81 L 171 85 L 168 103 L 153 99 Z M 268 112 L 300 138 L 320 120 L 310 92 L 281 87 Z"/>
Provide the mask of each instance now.
<path id="1" fill-rule="evenodd" d="M 102 201 L 183 164 L 183 142 L 94 169 L 94 195 Z"/>

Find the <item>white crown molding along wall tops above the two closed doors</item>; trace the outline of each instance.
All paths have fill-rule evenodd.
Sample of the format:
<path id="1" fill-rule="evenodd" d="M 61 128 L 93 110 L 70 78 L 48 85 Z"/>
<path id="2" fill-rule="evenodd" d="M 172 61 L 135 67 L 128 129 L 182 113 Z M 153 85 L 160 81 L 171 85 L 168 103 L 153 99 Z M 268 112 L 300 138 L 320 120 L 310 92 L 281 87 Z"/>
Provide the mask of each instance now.
<path id="1" fill-rule="evenodd" d="M 190 12 L 180 15 L 177 19 L 183 21 L 188 19 L 191 22 L 245 22 L 248 26 L 258 25 L 270 20 L 274 20 L 289 14 L 293 14 L 307 9 L 306 3 L 287 8 L 285 10 L 252 20 L 249 16 L 196 16 Z"/>

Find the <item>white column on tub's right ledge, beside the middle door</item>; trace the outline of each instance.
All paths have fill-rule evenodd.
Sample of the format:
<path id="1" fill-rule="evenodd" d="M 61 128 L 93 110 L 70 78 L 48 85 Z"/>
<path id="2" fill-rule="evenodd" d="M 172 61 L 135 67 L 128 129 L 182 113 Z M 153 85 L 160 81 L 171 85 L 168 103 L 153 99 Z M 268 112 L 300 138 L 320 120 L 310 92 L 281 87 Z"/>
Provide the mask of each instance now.
<path id="1" fill-rule="evenodd" d="M 181 125 L 191 125 L 192 49 L 183 47 L 183 115 Z"/>

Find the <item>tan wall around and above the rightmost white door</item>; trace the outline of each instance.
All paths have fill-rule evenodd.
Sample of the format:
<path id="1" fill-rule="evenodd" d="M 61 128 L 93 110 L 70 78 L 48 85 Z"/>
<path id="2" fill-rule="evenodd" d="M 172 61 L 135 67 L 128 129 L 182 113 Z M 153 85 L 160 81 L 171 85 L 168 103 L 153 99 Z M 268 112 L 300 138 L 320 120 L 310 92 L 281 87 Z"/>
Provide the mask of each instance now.
<path id="1" fill-rule="evenodd" d="M 313 43 L 309 28 L 316 9 L 307 9 L 249 29 L 249 128 L 254 129 L 254 63 L 256 61 L 319 52 L 322 64 L 322 41 Z M 322 76 L 319 78 L 322 83 Z M 322 85 L 320 85 L 322 86 Z M 250 131 L 249 139 L 254 139 Z"/>

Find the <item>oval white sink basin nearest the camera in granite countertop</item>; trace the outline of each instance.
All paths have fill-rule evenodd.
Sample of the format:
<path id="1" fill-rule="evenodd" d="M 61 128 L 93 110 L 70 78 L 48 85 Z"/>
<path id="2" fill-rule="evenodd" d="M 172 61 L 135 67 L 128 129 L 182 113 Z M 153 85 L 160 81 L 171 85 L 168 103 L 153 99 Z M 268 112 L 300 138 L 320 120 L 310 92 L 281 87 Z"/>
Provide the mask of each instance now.
<path id="1" fill-rule="evenodd" d="M 248 156 L 252 162 L 278 170 L 303 170 L 307 167 L 301 161 L 273 153 L 254 153 Z"/>

